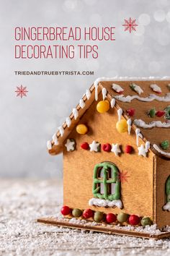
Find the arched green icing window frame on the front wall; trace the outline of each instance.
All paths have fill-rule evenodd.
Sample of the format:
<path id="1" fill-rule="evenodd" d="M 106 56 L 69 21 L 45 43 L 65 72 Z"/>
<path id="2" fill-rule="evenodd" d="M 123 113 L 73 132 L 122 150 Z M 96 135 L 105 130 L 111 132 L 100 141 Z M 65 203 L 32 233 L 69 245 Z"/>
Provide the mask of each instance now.
<path id="1" fill-rule="evenodd" d="M 103 177 L 99 177 L 99 168 L 101 168 L 100 173 L 103 171 Z M 108 172 L 109 169 L 111 171 L 111 177 L 108 179 Z M 114 163 L 111 162 L 103 162 L 98 163 L 94 166 L 94 176 L 93 176 L 93 189 L 92 193 L 94 197 L 98 197 L 100 199 L 105 200 L 120 200 L 120 181 L 118 179 L 119 170 Z M 99 184 L 103 184 L 104 186 L 104 193 L 100 193 L 100 186 Z M 108 186 L 109 184 L 115 184 L 115 193 L 110 194 Z"/>

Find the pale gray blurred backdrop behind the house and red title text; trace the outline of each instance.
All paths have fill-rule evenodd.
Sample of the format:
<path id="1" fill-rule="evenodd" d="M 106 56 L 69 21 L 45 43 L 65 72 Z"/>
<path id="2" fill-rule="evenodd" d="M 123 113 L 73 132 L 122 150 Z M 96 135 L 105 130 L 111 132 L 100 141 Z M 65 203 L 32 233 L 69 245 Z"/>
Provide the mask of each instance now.
<path id="1" fill-rule="evenodd" d="M 131 34 L 122 27 L 129 17 L 139 24 Z M 1 0 L 0 19 L 1 177 L 62 176 L 62 155 L 48 155 L 46 141 L 97 77 L 169 75 L 169 0 Z M 116 40 L 98 43 L 98 59 L 14 59 L 14 27 L 32 25 L 115 25 Z M 94 76 L 27 77 L 14 70 L 93 70 Z M 27 98 L 14 93 L 21 84 Z"/>

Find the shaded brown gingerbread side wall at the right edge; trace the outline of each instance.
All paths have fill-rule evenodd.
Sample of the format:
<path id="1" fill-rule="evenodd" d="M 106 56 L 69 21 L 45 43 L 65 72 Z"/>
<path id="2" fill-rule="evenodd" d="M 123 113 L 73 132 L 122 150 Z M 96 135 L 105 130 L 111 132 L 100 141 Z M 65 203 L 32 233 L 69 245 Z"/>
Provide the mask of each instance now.
<path id="1" fill-rule="evenodd" d="M 167 210 L 163 210 L 163 206 L 166 203 L 165 184 L 166 179 L 170 175 L 170 160 L 156 157 L 156 223 L 158 227 L 170 225 L 170 213 Z"/>

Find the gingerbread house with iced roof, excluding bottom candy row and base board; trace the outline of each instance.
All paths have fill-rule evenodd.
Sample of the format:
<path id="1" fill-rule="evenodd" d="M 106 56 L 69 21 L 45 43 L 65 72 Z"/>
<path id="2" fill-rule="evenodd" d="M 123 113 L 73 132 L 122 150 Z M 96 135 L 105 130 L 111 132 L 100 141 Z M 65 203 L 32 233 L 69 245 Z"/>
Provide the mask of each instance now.
<path id="1" fill-rule="evenodd" d="M 48 141 L 63 153 L 63 204 L 170 225 L 169 128 L 166 77 L 96 80 Z"/>

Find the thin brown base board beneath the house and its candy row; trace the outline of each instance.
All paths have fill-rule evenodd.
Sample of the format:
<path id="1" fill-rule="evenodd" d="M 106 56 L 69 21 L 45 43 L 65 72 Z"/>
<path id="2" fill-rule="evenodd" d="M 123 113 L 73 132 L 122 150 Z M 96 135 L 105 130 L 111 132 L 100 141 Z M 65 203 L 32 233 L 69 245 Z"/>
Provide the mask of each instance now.
<path id="1" fill-rule="evenodd" d="M 86 231 L 96 231 L 96 232 L 102 232 L 107 234 L 117 234 L 120 236 L 136 236 L 140 238 L 146 238 L 146 239 L 164 239 L 170 237 L 170 232 L 162 232 L 162 234 L 149 234 L 144 232 L 138 232 L 138 231 L 129 231 L 129 230 L 122 230 L 122 229 L 115 229 L 115 227 L 112 226 L 92 226 L 91 221 L 87 221 L 86 224 L 82 223 L 71 223 L 69 222 L 69 218 L 66 220 L 61 221 L 61 218 L 55 218 L 55 217 L 46 217 L 46 218 L 38 218 L 37 222 L 45 223 L 45 224 L 52 224 L 55 226 L 62 226 L 69 229 L 84 229 Z M 88 222 L 90 223 L 88 225 Z"/>

